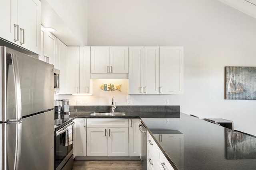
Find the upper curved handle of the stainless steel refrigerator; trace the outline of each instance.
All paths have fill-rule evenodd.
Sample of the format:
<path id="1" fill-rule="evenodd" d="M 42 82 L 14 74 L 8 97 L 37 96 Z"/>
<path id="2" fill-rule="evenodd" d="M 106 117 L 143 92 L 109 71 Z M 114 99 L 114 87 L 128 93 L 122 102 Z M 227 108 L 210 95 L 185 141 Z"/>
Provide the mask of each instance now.
<path id="1" fill-rule="evenodd" d="M 15 98 L 16 98 L 16 119 L 10 119 L 9 121 L 20 120 L 21 115 L 21 89 L 20 89 L 20 74 L 18 70 L 18 58 L 16 54 L 11 54 L 12 68 L 14 74 L 14 86 L 15 86 Z"/>

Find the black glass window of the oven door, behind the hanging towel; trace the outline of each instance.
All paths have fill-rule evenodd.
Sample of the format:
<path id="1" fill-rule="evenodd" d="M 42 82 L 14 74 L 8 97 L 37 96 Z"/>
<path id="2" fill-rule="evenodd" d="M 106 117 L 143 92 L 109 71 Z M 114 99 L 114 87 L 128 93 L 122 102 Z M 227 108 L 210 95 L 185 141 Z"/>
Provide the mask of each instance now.
<path id="1" fill-rule="evenodd" d="M 73 127 L 72 131 L 74 131 Z M 65 137 L 66 132 L 55 137 L 55 168 L 59 166 L 59 164 L 66 158 L 68 153 L 73 149 L 73 144 L 65 146 Z M 73 133 L 72 139 L 74 141 Z"/>

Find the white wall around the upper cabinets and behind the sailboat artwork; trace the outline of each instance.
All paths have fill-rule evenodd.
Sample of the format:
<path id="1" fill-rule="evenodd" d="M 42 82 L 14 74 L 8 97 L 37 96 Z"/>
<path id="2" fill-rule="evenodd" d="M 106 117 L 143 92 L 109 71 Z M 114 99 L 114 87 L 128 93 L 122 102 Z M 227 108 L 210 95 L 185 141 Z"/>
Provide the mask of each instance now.
<path id="1" fill-rule="evenodd" d="M 169 99 L 184 113 L 230 119 L 253 135 L 256 101 L 224 100 L 224 67 L 256 66 L 255 30 L 256 19 L 218 0 L 88 1 L 88 46 L 184 46 L 184 94 L 131 95 L 133 105 Z"/>

